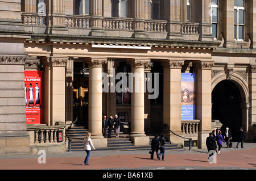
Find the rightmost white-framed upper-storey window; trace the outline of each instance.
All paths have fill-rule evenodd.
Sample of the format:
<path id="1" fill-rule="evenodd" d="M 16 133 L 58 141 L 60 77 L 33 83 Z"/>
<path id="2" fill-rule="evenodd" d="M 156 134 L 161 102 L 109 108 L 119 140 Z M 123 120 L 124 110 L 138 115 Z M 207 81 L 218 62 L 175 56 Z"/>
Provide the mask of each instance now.
<path id="1" fill-rule="evenodd" d="M 245 2 L 234 0 L 234 39 L 243 40 L 245 29 Z"/>

